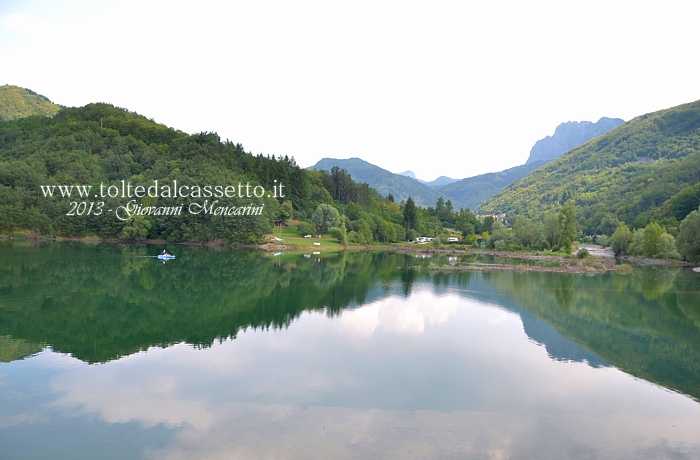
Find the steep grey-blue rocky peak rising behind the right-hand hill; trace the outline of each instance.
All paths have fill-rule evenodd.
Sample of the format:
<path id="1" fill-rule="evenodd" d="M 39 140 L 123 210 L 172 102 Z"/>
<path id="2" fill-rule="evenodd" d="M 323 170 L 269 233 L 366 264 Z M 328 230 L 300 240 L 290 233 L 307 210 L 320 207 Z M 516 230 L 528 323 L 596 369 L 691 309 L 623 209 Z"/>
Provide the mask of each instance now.
<path id="1" fill-rule="evenodd" d="M 574 147 L 578 147 L 594 137 L 602 136 L 624 122 L 625 120 L 620 118 L 603 117 L 596 123 L 590 121 L 562 123 L 554 130 L 553 136 L 547 136 L 535 142 L 525 164 L 555 160 Z"/>

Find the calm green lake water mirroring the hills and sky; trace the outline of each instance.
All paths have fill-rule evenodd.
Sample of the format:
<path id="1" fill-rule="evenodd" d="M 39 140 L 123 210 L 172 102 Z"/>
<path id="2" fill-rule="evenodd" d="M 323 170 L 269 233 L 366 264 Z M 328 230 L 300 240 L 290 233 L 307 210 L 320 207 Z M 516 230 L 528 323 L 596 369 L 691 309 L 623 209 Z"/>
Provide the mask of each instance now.
<path id="1" fill-rule="evenodd" d="M 0 458 L 700 458 L 700 275 L 0 242 Z"/>

